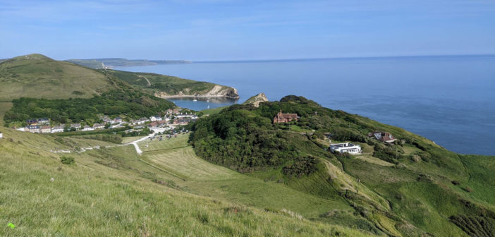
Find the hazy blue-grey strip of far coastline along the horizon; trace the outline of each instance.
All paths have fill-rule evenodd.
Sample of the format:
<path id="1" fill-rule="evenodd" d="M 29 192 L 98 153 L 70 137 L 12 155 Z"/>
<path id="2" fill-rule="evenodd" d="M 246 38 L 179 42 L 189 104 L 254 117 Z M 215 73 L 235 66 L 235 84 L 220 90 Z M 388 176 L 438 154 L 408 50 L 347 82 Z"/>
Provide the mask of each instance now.
<path id="1" fill-rule="evenodd" d="M 191 61 L 185 61 L 185 60 L 147 60 L 147 59 L 121 59 L 121 58 L 69 59 L 66 61 L 95 69 L 128 67 L 128 66 L 148 66 L 148 65 L 169 64 L 169 63 L 191 63 Z"/>

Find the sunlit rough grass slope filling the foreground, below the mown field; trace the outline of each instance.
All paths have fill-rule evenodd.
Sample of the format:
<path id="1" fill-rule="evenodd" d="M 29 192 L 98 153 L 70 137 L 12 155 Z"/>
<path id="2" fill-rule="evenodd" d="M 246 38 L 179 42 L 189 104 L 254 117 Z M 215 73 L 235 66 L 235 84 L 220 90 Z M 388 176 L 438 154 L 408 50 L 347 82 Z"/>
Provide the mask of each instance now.
<path id="1" fill-rule="evenodd" d="M 140 174 L 146 164 L 131 146 L 69 154 L 75 164 L 64 165 L 59 154 L 32 146 L 53 149 L 53 137 L 26 134 L 18 143 L 24 134 L 7 135 L 13 141 L 0 140 L 0 236 L 369 236 L 154 183 Z M 126 155 L 107 157 L 112 154 Z M 141 165 L 95 162 L 105 159 Z"/>

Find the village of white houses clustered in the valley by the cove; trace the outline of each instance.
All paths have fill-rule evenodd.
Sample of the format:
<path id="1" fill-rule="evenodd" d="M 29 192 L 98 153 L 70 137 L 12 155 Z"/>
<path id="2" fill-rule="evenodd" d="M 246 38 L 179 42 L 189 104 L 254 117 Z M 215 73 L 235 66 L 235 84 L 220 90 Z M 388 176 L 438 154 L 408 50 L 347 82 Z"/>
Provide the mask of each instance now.
<path id="1" fill-rule="evenodd" d="M 149 118 L 142 117 L 140 119 L 123 119 L 118 116 L 111 119 L 109 116 L 102 115 L 99 117 L 101 123 L 71 123 L 71 124 L 51 124 L 50 119 L 28 119 L 27 126 L 16 128 L 23 132 L 31 133 L 63 133 L 63 132 L 84 132 L 92 130 L 104 130 L 112 128 L 126 128 L 126 133 L 138 132 L 145 127 L 148 128 L 166 128 L 169 126 L 183 126 L 191 121 L 198 119 L 197 115 L 192 111 L 183 112 L 181 109 L 168 109 L 164 111 L 164 115 L 150 116 Z"/>

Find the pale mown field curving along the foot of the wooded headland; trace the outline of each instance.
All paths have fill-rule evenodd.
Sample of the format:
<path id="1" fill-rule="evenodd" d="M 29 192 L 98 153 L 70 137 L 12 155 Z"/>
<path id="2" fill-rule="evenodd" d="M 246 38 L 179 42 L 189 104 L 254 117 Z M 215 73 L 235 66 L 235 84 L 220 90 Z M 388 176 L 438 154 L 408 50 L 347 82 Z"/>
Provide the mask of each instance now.
<path id="1" fill-rule="evenodd" d="M 298 192 L 282 183 L 264 182 L 231 169 L 204 161 L 187 145 L 188 135 L 164 141 L 140 142 L 143 158 L 178 178 L 181 186 L 194 193 L 253 207 L 290 209 L 307 218 L 331 209 L 351 208 L 343 202 L 325 200 Z M 149 147 L 145 147 L 149 145 Z M 147 149 L 147 150 L 146 150 Z"/>

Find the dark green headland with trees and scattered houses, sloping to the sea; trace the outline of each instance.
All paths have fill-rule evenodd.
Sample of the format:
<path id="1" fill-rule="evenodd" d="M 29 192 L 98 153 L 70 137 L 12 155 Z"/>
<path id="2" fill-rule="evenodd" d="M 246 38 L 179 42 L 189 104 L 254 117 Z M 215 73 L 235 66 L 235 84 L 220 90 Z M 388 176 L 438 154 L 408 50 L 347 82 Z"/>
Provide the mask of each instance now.
<path id="1" fill-rule="evenodd" d="M 301 118 L 291 126 L 273 125 L 280 109 Z M 258 108 L 233 105 L 192 129 L 191 144 L 203 159 L 302 193 L 343 200 L 390 236 L 495 234 L 495 157 L 449 152 L 401 128 L 295 96 Z M 399 141 L 372 140 L 367 133 L 373 130 L 388 131 Z M 334 142 L 360 144 L 365 153 L 331 154 L 324 133 Z M 345 213 L 335 209 L 319 218 L 348 219 Z"/>

